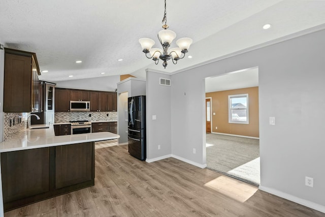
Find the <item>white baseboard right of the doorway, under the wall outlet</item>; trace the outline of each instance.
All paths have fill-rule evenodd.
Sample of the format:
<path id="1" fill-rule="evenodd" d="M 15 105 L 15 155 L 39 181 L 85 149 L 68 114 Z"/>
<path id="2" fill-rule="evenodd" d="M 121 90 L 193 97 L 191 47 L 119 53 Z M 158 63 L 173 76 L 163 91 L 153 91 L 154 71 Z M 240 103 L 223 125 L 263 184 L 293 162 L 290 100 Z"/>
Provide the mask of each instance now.
<path id="1" fill-rule="evenodd" d="M 281 191 L 278 191 L 278 190 L 275 190 L 272 188 L 264 187 L 264 186 L 259 186 L 258 189 L 325 213 L 325 206 L 319 205 L 319 204 L 311 202 L 309 200 L 305 200 L 305 199 L 302 199 L 302 198 L 299 198 L 299 197 L 296 197 L 296 196 L 293 196 L 293 195 L 290 195 L 290 194 L 287 194 L 287 193 L 284 193 L 284 192 L 281 192 Z"/>

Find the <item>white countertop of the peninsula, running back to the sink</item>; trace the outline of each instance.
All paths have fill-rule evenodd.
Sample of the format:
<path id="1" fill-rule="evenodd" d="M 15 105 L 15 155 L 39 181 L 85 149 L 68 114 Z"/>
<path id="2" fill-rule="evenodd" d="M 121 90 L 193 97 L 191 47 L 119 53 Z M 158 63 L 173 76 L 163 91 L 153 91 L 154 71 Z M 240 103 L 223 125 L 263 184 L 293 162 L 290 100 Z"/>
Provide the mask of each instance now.
<path id="1" fill-rule="evenodd" d="M 40 127 L 40 125 L 37 127 Z M 65 144 L 74 144 L 89 141 L 104 141 L 116 139 L 119 137 L 119 135 L 111 132 L 55 136 L 53 125 L 49 125 L 49 128 L 26 129 L 25 131 L 7 139 L 6 141 L 1 142 L 0 153 L 52 146 L 62 146 Z"/>

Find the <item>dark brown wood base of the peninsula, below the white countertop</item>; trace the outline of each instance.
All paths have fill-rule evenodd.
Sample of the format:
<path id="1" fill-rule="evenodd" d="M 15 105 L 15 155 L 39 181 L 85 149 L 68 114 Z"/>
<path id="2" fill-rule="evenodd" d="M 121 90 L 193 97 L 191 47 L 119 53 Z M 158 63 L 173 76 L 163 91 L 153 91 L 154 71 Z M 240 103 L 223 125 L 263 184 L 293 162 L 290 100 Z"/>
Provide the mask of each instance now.
<path id="1" fill-rule="evenodd" d="M 1 153 L 4 210 L 94 185 L 94 142 Z"/>

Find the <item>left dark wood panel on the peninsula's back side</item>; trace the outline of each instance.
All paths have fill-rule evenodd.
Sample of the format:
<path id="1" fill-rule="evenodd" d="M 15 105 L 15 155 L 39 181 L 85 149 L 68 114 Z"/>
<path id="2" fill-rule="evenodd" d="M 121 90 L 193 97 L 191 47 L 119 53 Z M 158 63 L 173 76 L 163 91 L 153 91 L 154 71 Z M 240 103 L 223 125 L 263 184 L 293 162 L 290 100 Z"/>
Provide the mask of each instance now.
<path id="1" fill-rule="evenodd" d="M 49 168 L 50 148 L 1 153 L 5 210 L 22 206 L 26 201 L 30 203 L 28 200 L 34 200 L 33 196 L 49 192 Z"/>

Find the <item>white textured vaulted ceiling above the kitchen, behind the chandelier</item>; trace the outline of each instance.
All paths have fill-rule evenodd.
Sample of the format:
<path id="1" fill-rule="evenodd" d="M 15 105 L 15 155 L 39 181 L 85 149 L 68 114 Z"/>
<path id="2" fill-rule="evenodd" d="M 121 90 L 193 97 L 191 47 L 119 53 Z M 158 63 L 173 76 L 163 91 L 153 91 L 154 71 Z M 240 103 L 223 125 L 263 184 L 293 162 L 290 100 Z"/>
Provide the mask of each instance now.
<path id="1" fill-rule="evenodd" d="M 46 81 L 144 77 L 145 68 L 173 73 L 322 25 L 324 11 L 325 1 L 167 0 L 167 24 L 176 40 L 193 39 L 188 52 L 193 58 L 177 65 L 169 61 L 164 69 L 162 62 L 155 65 L 147 59 L 138 43 L 147 37 L 160 47 L 156 34 L 161 30 L 163 0 L 1 0 L 0 43 L 35 52 L 41 70 L 49 70 L 41 76 Z M 272 28 L 264 30 L 266 23 Z"/>

